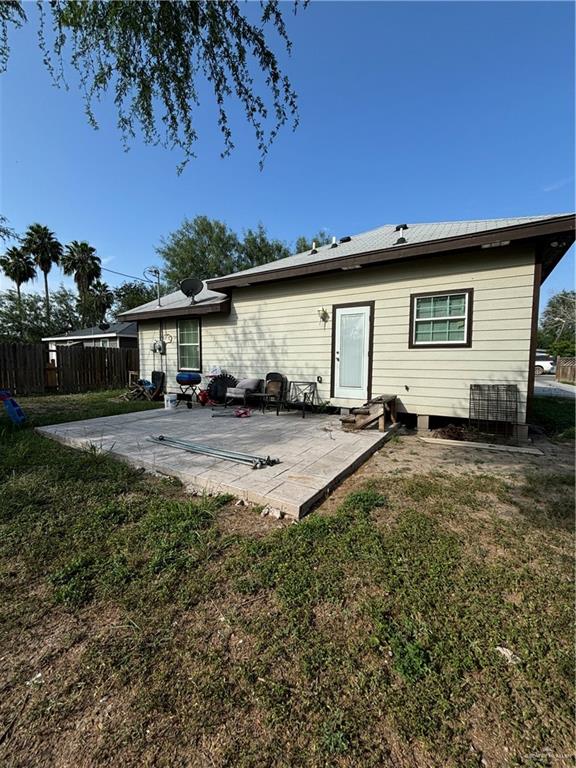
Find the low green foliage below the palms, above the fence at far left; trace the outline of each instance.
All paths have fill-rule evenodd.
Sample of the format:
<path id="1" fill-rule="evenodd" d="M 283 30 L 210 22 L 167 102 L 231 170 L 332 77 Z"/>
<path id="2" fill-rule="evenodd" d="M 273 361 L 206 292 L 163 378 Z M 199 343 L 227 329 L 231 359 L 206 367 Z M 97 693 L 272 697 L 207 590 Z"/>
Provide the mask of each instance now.
<path id="1" fill-rule="evenodd" d="M 40 341 L 43 336 L 79 328 L 80 316 L 77 310 L 77 297 L 66 288 L 59 288 L 51 293 L 50 321 L 46 321 L 44 297 L 40 293 L 22 294 L 22 322 L 20 322 L 20 304 L 16 291 L 0 292 L 0 341 Z"/>

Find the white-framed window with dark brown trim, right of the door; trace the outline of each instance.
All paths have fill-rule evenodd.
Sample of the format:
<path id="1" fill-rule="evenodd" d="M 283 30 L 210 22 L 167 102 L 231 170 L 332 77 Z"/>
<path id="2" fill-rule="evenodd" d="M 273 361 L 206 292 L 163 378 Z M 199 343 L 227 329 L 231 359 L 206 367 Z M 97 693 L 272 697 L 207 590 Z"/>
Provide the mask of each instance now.
<path id="1" fill-rule="evenodd" d="M 469 347 L 472 343 L 472 288 L 410 297 L 411 347 Z"/>

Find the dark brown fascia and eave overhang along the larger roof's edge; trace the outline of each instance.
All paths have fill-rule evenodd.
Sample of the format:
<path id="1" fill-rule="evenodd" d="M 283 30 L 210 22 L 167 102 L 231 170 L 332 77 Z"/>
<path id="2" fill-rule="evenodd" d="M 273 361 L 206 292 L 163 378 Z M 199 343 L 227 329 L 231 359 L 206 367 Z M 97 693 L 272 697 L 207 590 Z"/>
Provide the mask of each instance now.
<path id="1" fill-rule="evenodd" d="M 306 277 L 323 272 L 358 269 L 364 266 L 376 266 L 405 259 L 422 258 L 426 256 L 441 256 L 453 251 L 465 251 L 481 247 L 508 245 L 512 242 L 532 241 L 537 258 L 542 262 L 542 281 L 550 274 L 568 248 L 574 242 L 575 218 L 556 216 L 544 221 L 532 221 L 511 227 L 478 232 L 473 235 L 458 235 L 456 237 L 428 240 L 411 245 L 397 245 L 378 251 L 367 251 L 352 256 L 323 259 L 317 262 L 299 266 L 282 267 L 255 272 L 254 274 L 232 274 L 225 277 L 215 277 L 208 280 L 210 290 L 222 291 L 226 288 L 245 287 L 257 283 L 266 283 L 287 278 Z M 557 245 L 553 246 L 552 243 Z"/>

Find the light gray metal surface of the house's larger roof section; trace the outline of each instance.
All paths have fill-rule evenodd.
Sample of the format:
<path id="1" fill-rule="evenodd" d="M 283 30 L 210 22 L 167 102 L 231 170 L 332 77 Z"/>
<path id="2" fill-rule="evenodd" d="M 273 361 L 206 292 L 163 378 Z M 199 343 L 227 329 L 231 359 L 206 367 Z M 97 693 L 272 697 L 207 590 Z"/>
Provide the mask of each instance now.
<path id="1" fill-rule="evenodd" d="M 399 221 L 395 224 L 385 224 L 377 229 L 371 229 L 359 235 L 352 235 L 350 242 L 338 243 L 338 247 L 332 248 L 330 245 L 323 245 L 317 248 L 317 253 L 310 251 L 296 253 L 293 256 L 287 256 L 278 261 L 271 261 L 260 267 L 244 269 L 241 272 L 234 272 L 233 276 L 257 275 L 271 270 L 279 270 L 288 267 L 301 267 L 309 264 L 317 264 L 322 261 L 343 258 L 346 256 L 355 256 L 356 254 L 369 253 L 371 251 L 382 251 L 385 249 L 397 249 L 401 253 L 402 248 L 416 245 L 419 243 L 432 242 L 434 240 L 444 240 L 465 235 L 475 235 L 491 230 L 503 229 L 505 227 L 515 227 L 521 224 L 531 222 L 546 221 L 555 219 L 558 216 L 569 216 L 570 214 L 548 214 L 545 216 L 524 216 L 506 219 L 482 219 L 477 221 L 441 221 L 435 223 L 411 224 L 410 222 Z M 408 229 L 397 232 L 398 224 L 408 224 Z M 341 233 L 341 236 L 347 235 L 347 232 Z M 405 245 L 395 245 L 398 238 L 406 238 Z M 226 275 L 221 278 L 212 278 L 211 285 L 218 285 L 219 280 L 226 280 L 232 275 Z"/>

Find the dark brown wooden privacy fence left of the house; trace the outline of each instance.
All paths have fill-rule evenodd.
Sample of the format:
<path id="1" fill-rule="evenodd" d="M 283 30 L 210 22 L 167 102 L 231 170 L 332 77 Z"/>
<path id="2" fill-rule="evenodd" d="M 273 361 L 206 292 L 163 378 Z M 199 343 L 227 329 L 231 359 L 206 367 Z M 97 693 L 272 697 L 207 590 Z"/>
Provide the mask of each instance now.
<path id="1" fill-rule="evenodd" d="M 59 346 L 54 367 L 44 344 L 0 344 L 0 389 L 14 395 L 121 389 L 137 370 L 137 349 Z"/>

